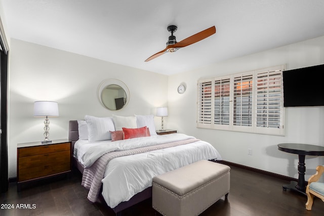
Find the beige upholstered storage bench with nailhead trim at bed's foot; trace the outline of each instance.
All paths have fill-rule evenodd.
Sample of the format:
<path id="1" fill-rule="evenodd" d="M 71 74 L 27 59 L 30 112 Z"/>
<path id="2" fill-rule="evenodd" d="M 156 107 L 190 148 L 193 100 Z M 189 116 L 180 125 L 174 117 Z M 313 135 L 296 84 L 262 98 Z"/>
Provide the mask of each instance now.
<path id="1" fill-rule="evenodd" d="M 229 192 L 230 167 L 208 160 L 153 178 L 152 206 L 163 215 L 198 215 Z"/>

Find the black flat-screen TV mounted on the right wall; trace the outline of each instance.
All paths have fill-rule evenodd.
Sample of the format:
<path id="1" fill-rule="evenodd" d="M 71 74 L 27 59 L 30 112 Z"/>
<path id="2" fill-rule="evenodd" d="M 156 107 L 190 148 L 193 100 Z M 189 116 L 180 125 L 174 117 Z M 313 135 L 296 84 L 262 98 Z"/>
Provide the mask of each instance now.
<path id="1" fill-rule="evenodd" d="M 324 65 L 282 72 L 284 107 L 324 106 Z"/>

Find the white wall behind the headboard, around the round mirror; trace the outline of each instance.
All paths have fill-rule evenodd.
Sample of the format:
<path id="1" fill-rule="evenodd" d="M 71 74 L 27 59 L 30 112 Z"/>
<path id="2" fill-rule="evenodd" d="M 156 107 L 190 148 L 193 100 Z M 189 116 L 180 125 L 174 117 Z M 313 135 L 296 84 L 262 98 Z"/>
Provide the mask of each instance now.
<path id="1" fill-rule="evenodd" d="M 108 78 L 130 91 L 127 107 L 105 109 L 97 98 Z M 11 39 L 9 77 L 9 177 L 16 176 L 17 143 L 44 140 L 44 119 L 33 118 L 33 102 L 57 101 L 59 117 L 50 118 L 50 139 L 67 139 L 68 121 L 86 114 L 101 116 L 155 114 L 167 106 L 168 76 Z M 156 119 L 159 129 L 160 119 Z"/>

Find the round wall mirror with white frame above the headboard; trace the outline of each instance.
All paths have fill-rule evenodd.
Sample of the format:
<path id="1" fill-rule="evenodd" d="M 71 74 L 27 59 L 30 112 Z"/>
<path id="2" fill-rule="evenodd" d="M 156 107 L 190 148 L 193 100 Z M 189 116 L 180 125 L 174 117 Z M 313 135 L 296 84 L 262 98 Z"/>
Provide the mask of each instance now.
<path id="1" fill-rule="evenodd" d="M 98 88 L 100 103 L 109 110 L 124 108 L 130 100 L 130 92 L 126 84 L 118 79 L 106 79 Z"/>

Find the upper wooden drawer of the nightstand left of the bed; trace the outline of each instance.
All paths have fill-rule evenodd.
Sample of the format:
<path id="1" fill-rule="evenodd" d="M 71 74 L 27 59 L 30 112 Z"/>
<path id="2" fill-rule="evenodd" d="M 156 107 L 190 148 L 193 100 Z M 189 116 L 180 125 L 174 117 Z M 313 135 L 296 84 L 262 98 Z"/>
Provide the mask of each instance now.
<path id="1" fill-rule="evenodd" d="M 70 143 L 62 143 L 55 145 L 33 146 L 18 149 L 19 157 L 46 154 L 51 152 L 67 151 L 70 150 Z"/>

